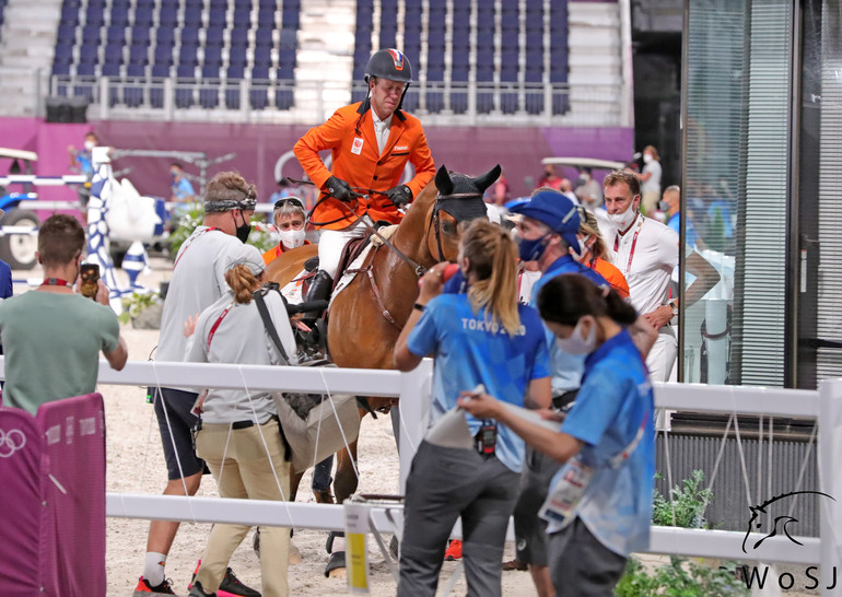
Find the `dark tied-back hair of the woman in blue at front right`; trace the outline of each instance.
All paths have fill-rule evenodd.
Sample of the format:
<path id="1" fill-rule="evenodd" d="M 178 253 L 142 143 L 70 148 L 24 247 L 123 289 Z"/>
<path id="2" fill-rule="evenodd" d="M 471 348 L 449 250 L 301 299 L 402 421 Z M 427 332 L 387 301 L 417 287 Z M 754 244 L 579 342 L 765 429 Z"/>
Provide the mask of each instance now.
<path id="1" fill-rule="evenodd" d="M 562 326 L 575 326 L 584 315 L 610 317 L 623 326 L 638 319 L 638 312 L 610 286 L 597 286 L 581 273 L 563 273 L 547 282 L 538 293 L 541 318 Z"/>

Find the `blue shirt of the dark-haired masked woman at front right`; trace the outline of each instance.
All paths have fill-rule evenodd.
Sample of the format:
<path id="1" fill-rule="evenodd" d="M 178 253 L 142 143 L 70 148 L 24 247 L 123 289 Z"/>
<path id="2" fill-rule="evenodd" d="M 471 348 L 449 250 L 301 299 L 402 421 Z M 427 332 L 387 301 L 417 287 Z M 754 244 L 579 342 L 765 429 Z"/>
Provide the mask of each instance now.
<path id="1" fill-rule="evenodd" d="M 600 543 L 620 555 L 648 547 L 655 476 L 654 415 L 652 386 L 643 360 L 623 330 L 587 356 L 576 403 L 561 425 L 562 432 L 585 443 L 580 453 L 582 460 L 594 468 L 576 515 Z M 643 438 L 634 452 L 612 468 L 611 458 L 632 443 L 642 424 Z M 556 475 L 552 487 L 564 469 Z M 550 523 L 547 532 L 556 532 L 559 526 Z"/>

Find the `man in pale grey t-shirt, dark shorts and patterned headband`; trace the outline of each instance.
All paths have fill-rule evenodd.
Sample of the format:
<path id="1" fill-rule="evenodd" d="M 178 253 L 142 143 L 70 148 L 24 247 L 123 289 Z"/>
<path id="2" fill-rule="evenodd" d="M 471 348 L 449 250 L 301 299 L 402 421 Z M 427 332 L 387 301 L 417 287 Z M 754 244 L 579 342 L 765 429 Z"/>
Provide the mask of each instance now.
<path id="1" fill-rule="evenodd" d="M 187 339 L 184 324 L 215 303 L 226 291 L 225 271 L 239 258 L 252 230 L 257 190 L 235 172 L 211 178 L 204 194 L 204 220 L 182 244 L 164 302 L 155 361 L 182 362 Z M 192 428 L 199 420 L 191 410 L 198 394 L 177 388 L 149 388 L 167 465 L 164 495 L 190 495 L 199 489 L 203 463 L 192 447 Z M 164 575 L 167 553 L 179 523 L 152 520 L 147 541 L 143 576 L 135 595 L 172 594 Z M 223 581 L 223 585 L 225 581 Z"/>

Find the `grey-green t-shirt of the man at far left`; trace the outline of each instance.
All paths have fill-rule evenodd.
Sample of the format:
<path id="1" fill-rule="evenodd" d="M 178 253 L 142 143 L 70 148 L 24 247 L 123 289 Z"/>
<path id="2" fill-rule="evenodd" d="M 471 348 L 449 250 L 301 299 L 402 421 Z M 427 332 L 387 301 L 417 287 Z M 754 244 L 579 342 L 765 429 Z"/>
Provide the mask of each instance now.
<path id="1" fill-rule="evenodd" d="M 30 291 L 0 304 L 3 406 L 35 414 L 44 402 L 96 388 L 100 351 L 119 344 L 114 312 L 80 294 Z"/>

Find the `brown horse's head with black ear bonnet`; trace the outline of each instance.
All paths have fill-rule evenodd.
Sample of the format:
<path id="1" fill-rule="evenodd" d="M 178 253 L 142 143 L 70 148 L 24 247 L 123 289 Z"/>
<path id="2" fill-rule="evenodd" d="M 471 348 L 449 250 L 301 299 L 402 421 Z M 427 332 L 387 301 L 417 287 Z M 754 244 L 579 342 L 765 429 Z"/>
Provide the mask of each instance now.
<path id="1" fill-rule="evenodd" d="M 475 218 L 488 218 L 482 194 L 500 177 L 500 164 L 472 178 L 447 172 L 445 166 L 435 174 L 437 195 L 432 208 L 426 244 L 437 261 L 456 261 L 459 254 L 458 224 Z"/>

